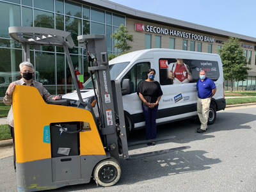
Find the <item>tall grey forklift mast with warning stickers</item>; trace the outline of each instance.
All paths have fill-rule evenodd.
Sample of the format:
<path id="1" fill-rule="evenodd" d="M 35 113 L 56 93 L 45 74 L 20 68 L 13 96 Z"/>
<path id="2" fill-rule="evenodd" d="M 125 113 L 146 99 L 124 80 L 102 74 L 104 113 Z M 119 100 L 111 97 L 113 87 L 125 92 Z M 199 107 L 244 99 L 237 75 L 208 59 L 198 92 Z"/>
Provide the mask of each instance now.
<path id="1" fill-rule="evenodd" d="M 99 125 L 106 146 L 116 159 L 119 159 L 118 150 L 128 158 L 121 85 L 120 82 L 111 83 L 106 38 L 104 35 L 81 35 L 77 40 L 79 47 L 86 48 L 88 63 L 92 63 L 88 70 L 95 73 Z"/>

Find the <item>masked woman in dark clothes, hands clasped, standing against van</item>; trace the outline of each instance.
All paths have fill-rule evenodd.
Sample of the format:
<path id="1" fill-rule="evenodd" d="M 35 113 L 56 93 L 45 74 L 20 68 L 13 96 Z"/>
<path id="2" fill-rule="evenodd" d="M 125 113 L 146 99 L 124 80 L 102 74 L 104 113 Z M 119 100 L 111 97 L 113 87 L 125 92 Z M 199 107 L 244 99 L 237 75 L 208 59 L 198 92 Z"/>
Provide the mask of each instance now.
<path id="1" fill-rule="evenodd" d="M 137 92 L 142 101 L 147 140 L 156 139 L 156 115 L 159 100 L 163 95 L 160 84 L 154 81 L 155 75 L 156 71 L 153 68 L 148 69 L 148 78 L 140 83 Z M 156 145 L 156 142 L 147 143 L 147 145 Z"/>

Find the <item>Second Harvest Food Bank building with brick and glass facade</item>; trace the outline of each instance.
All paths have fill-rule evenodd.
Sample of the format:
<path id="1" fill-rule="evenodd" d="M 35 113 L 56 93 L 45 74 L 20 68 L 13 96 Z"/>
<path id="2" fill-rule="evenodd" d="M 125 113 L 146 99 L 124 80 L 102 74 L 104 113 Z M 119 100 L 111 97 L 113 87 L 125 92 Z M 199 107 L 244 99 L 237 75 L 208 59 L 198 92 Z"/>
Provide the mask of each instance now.
<path id="1" fill-rule="evenodd" d="M 134 41 L 131 51 L 150 48 L 181 49 L 218 54 L 229 36 L 241 40 L 248 61 L 248 79 L 236 82 L 234 90 L 255 90 L 256 38 L 175 20 L 152 13 L 141 12 L 106 0 L 0 0 L 0 97 L 8 85 L 19 79 L 22 47 L 8 35 L 9 26 L 35 26 L 60 29 L 72 33 L 76 44 L 70 50 L 74 67 L 88 79 L 88 63 L 84 48 L 78 47 L 77 36 L 105 34 L 108 53 L 118 54 L 111 34 L 124 24 Z M 35 66 L 35 79 L 44 83 L 52 94 L 74 90 L 71 74 L 63 49 L 41 47 L 31 49 L 31 63 Z M 228 89 L 230 82 L 225 83 Z"/>

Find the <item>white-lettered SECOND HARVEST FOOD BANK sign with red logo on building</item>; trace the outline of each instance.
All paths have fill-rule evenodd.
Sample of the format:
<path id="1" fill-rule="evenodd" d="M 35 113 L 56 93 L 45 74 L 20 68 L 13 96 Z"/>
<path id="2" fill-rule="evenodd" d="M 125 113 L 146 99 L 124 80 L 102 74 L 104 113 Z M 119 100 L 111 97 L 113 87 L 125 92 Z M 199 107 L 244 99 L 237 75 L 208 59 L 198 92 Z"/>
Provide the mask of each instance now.
<path id="1" fill-rule="evenodd" d="M 198 40 L 198 41 L 204 41 L 204 42 L 214 42 L 213 37 L 209 36 L 203 36 L 203 35 L 196 35 L 194 33 L 188 33 L 184 31 L 177 31 L 177 30 L 172 30 L 172 29 L 166 29 L 166 28 L 159 28 L 156 26 L 144 26 L 144 24 L 141 23 L 136 23 L 135 24 L 135 30 L 136 31 L 147 31 L 150 33 L 157 33 L 157 34 L 163 34 L 163 35 L 170 35 L 170 36 L 179 36 L 182 38 L 190 38 L 193 40 Z"/>

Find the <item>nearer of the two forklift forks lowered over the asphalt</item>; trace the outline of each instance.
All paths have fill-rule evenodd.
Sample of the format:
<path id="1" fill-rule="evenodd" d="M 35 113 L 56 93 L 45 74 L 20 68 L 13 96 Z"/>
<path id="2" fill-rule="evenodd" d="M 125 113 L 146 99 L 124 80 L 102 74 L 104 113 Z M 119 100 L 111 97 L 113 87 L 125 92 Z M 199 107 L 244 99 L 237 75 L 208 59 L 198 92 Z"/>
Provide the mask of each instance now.
<path id="1" fill-rule="evenodd" d="M 156 151 L 147 152 L 147 153 L 143 153 L 143 154 L 135 154 L 135 155 L 129 156 L 129 158 L 127 158 L 127 160 L 141 159 L 141 158 L 145 158 L 145 157 L 158 156 L 158 155 L 161 155 L 161 154 L 167 154 L 169 152 L 174 152 L 174 151 L 178 151 L 178 150 L 184 150 L 184 149 L 187 149 L 187 148 L 190 148 L 190 146 L 168 148 L 168 149 L 164 149 L 164 150 L 156 150 Z"/>

